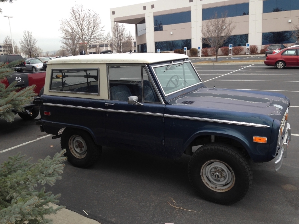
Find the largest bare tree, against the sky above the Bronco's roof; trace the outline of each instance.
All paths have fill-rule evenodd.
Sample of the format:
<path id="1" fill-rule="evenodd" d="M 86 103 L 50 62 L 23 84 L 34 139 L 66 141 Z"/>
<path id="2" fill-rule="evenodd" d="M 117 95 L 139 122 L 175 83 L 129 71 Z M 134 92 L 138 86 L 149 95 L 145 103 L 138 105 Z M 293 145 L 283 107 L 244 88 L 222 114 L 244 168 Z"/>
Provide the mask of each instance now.
<path id="1" fill-rule="evenodd" d="M 74 49 L 78 43 L 83 43 L 84 50 L 87 46 L 103 40 L 103 26 L 98 13 L 86 10 L 82 5 L 71 8 L 70 19 L 60 20 L 62 33 L 62 48 L 76 55 Z"/>

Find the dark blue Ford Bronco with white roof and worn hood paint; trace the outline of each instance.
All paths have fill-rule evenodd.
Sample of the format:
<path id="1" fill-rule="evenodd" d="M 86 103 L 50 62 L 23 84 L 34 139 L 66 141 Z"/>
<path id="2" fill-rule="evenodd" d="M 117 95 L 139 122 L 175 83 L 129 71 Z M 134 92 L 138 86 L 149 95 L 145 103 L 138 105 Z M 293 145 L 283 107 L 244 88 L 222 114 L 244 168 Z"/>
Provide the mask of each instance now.
<path id="1" fill-rule="evenodd" d="M 61 137 L 72 165 L 91 166 L 102 146 L 172 159 L 185 153 L 194 189 L 221 204 L 246 195 L 250 161 L 273 160 L 279 170 L 291 139 L 287 97 L 207 88 L 182 54 L 50 60 L 39 102 L 41 131 Z"/>

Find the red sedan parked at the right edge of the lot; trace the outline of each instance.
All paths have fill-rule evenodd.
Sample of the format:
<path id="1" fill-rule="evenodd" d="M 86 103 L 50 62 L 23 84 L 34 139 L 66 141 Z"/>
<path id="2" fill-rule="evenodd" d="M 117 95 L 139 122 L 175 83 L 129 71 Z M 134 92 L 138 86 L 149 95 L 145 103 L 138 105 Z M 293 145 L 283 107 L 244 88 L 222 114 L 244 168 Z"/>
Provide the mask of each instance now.
<path id="1" fill-rule="evenodd" d="M 269 54 L 264 61 L 265 65 L 283 69 L 286 66 L 299 66 L 299 47 L 285 48 L 275 54 Z"/>

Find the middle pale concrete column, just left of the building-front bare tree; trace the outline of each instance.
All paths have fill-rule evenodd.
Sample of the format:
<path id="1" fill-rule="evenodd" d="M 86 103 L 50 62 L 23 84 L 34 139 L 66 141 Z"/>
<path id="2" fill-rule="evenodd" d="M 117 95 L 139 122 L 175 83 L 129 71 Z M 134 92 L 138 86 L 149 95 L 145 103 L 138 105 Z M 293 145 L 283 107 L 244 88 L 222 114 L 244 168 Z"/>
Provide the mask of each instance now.
<path id="1" fill-rule="evenodd" d="M 202 48 L 202 5 L 191 7 L 192 48 Z"/>

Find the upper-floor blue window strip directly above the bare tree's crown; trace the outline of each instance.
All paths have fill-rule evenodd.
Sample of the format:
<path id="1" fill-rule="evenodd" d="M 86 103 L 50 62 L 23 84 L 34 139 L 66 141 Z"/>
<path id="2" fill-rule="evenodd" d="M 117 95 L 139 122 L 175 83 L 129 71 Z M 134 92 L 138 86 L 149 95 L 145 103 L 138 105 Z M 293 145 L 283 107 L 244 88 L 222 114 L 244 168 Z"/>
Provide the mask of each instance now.
<path id="1" fill-rule="evenodd" d="M 248 15 L 249 3 L 232 4 L 232 5 L 202 9 L 202 20 L 211 19 L 215 15 L 215 13 L 217 13 L 218 17 L 221 17 L 221 15 L 224 13 L 227 13 L 226 15 L 227 17 Z"/>

